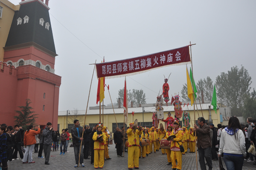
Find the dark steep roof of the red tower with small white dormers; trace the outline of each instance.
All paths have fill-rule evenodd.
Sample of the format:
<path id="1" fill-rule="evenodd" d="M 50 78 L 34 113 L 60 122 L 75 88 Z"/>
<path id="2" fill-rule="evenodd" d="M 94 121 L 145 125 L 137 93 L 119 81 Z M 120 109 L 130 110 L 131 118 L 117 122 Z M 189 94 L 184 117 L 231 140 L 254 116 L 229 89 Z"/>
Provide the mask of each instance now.
<path id="1" fill-rule="evenodd" d="M 28 22 L 24 23 L 27 19 Z M 44 21 L 43 24 L 40 24 L 40 19 Z M 31 42 L 56 53 L 49 7 L 41 0 L 20 2 L 20 10 L 15 12 L 5 47 Z"/>

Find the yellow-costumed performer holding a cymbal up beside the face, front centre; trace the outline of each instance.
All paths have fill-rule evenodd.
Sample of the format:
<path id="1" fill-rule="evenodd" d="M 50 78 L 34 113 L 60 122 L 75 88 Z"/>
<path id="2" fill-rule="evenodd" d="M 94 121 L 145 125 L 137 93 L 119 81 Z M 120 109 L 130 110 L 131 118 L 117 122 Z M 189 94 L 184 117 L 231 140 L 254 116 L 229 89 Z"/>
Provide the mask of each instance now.
<path id="1" fill-rule="evenodd" d="M 136 131 L 134 133 L 134 128 Z M 132 168 L 139 169 L 139 147 L 140 147 L 140 138 L 139 135 L 142 134 L 142 127 L 140 130 L 137 130 L 137 127 L 134 127 L 134 123 L 130 124 L 130 129 L 127 130 L 128 137 L 128 169 Z"/>

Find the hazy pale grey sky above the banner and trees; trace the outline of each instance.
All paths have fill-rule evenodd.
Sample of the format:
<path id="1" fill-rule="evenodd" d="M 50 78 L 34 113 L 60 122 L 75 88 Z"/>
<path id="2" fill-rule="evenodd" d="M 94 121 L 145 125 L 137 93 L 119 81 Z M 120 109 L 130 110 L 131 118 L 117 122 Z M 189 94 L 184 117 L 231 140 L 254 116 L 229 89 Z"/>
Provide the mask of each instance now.
<path id="1" fill-rule="evenodd" d="M 17 5 L 21 0 L 10 1 Z M 256 86 L 255 0 L 49 0 L 49 7 L 58 54 L 55 74 L 62 76 L 59 111 L 86 109 L 93 74 L 93 65 L 88 64 L 95 60 L 138 57 L 186 46 L 189 41 L 196 43 L 192 47 L 196 82 L 207 76 L 215 82 L 221 72 L 243 65 L 252 77 L 251 87 Z M 127 88 L 143 89 L 147 103 L 154 103 L 163 74 L 170 72 L 169 95 L 174 95 L 186 83 L 186 65 L 128 77 Z M 113 102 L 124 80 L 106 79 Z M 97 84 L 94 74 L 88 106 L 96 106 Z M 107 91 L 104 104 L 110 103 Z"/>

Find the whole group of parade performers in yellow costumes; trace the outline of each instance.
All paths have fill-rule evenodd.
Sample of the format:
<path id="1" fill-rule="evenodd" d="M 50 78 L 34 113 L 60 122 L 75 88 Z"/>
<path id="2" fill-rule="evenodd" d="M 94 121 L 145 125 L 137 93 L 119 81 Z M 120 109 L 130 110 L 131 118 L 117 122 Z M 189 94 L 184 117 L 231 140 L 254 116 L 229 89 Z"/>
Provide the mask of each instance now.
<path id="1" fill-rule="evenodd" d="M 172 118 L 169 114 L 169 119 Z M 166 120 L 169 120 L 166 119 Z M 170 121 L 169 121 L 170 122 Z M 172 169 L 181 170 L 182 155 L 187 153 L 188 148 L 190 153 L 195 152 L 195 133 L 192 128 L 180 127 L 178 119 L 172 118 L 172 124 L 167 124 L 167 131 L 163 127 L 137 127 L 134 131 L 134 123 L 130 124 L 127 130 L 128 140 L 125 142 L 125 147 L 128 148 L 128 169 L 139 169 L 139 158 L 145 158 L 148 154 L 156 153 L 161 148 L 162 154 L 167 155 L 168 164 L 172 164 Z M 189 129 L 189 130 L 188 130 Z M 108 156 L 108 134 L 102 132 L 102 125 L 96 127 L 96 132 L 93 134 L 94 142 L 94 168 L 103 168 L 104 157 Z M 167 141 L 169 136 L 175 135 L 171 141 Z M 122 134 L 123 137 L 123 134 Z M 180 145 L 184 147 L 184 152 L 180 152 Z M 154 146 L 154 147 L 153 147 Z M 154 148 L 154 149 L 153 149 Z M 105 154 L 105 155 L 104 155 Z M 119 156 L 119 155 L 118 155 Z M 176 165 L 177 162 L 177 165 Z"/>

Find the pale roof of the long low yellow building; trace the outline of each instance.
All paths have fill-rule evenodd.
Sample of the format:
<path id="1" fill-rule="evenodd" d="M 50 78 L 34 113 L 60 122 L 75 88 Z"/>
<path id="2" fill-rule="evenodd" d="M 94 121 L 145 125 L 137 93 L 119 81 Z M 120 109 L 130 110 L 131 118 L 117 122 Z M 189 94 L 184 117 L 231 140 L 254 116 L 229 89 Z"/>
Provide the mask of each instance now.
<path id="1" fill-rule="evenodd" d="M 201 107 L 203 110 L 208 110 L 209 109 L 209 103 L 207 104 L 201 104 Z M 184 105 L 183 105 L 184 106 Z M 187 110 L 187 107 L 183 107 L 183 110 Z M 197 104 L 198 109 L 201 109 L 200 104 Z M 189 110 L 194 110 L 194 106 L 189 105 L 188 106 Z M 128 108 L 128 113 L 131 112 L 135 112 L 135 113 L 142 113 L 143 112 L 143 107 L 131 107 Z M 195 105 L 195 109 L 196 109 L 196 105 Z M 211 109 L 213 109 L 213 107 L 211 106 Z M 151 106 L 151 107 L 144 107 L 145 112 L 154 112 L 155 111 L 155 107 Z M 115 114 L 123 114 L 124 113 L 124 109 L 123 108 L 114 108 Z M 164 112 L 172 112 L 174 111 L 174 106 L 163 106 L 163 111 Z M 72 112 L 72 111 L 70 111 Z M 78 111 L 78 115 L 85 115 L 86 110 L 79 110 Z M 99 109 L 88 109 L 87 110 L 87 115 L 98 115 L 99 114 Z M 105 114 L 113 114 L 113 108 L 111 109 L 104 109 L 104 115 Z M 59 111 L 58 115 L 67 115 L 67 111 Z"/>

